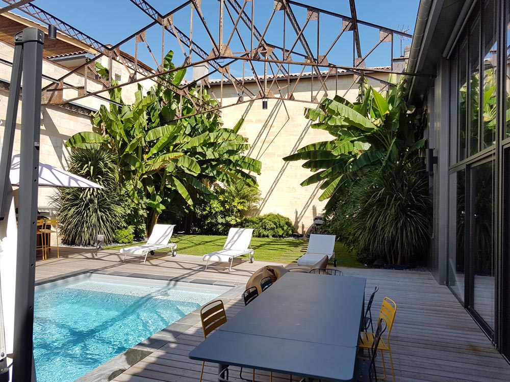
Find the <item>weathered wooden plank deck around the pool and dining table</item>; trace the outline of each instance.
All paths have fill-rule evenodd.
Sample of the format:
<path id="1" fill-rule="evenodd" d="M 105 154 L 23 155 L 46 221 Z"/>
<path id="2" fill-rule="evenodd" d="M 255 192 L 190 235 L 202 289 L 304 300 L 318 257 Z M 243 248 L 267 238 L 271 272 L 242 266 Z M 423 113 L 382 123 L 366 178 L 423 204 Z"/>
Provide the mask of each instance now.
<path id="1" fill-rule="evenodd" d="M 49 258 L 37 262 L 36 278 L 40 282 L 70 273 L 97 270 L 113 275 L 152 275 L 159 279 L 232 283 L 239 286 L 232 292 L 227 292 L 224 297 L 227 315 L 233 316 L 244 307 L 239 291 L 244 290 L 248 277 L 254 270 L 267 264 L 258 261 L 254 264 L 235 261 L 232 272 L 228 272 L 218 269 L 205 271 L 201 259 L 196 256 L 170 257 L 157 254 L 149 257 L 146 264 L 142 264 L 139 259 L 130 259 L 125 263 L 120 260 L 120 255 L 113 251 L 102 251 L 97 258 L 92 258 L 89 251 L 76 253 L 75 250 L 61 248 L 60 259 Z M 391 333 L 397 381 L 510 380 L 510 366 L 448 288 L 438 285 L 428 272 L 352 268 L 342 271 L 346 276 L 367 279 L 367 300 L 374 286 L 379 286 L 372 307 L 375 315 L 385 296 L 391 297 L 397 303 L 397 315 Z M 202 341 L 197 314 L 191 314 L 169 328 L 155 336 L 154 341 L 145 343 L 146 347 L 141 344 L 138 347 L 141 349 L 138 358 L 128 362 L 128 366 L 125 366 L 125 362 L 122 366 L 119 361 L 113 370 L 87 374 L 79 380 L 198 381 L 201 364 L 188 358 L 189 351 Z M 234 370 L 231 371 L 231 379 L 241 381 L 239 373 Z M 244 376 L 250 378 L 250 371 L 247 370 Z M 215 365 L 206 364 L 203 380 L 217 380 Z M 269 375 L 257 371 L 256 380 L 269 380 Z M 273 375 L 273 380 L 288 381 L 289 376 Z M 387 380 L 391 380 L 391 377 Z"/>

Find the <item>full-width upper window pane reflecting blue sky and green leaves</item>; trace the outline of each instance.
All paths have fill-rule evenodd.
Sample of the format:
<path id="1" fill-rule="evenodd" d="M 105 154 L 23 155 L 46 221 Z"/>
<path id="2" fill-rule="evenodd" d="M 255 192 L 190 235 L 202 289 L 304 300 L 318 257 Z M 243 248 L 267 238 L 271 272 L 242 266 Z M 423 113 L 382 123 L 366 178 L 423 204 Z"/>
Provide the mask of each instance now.
<path id="1" fill-rule="evenodd" d="M 482 149 L 494 144 L 496 138 L 496 69 L 497 69 L 497 4 L 486 1 L 483 9 L 483 98 Z"/>

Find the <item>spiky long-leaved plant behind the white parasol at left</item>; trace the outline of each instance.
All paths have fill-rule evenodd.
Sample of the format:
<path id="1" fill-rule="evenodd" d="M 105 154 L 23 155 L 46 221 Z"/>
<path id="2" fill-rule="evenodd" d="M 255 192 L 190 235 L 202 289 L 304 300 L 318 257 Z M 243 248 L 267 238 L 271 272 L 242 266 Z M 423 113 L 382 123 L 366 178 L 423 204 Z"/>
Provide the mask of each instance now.
<path id="1" fill-rule="evenodd" d="M 69 162 L 69 172 L 105 188 L 57 188 L 52 204 L 57 209 L 62 242 L 94 245 L 96 234 L 105 235 L 105 243 L 112 242 L 115 232 L 125 226 L 115 155 L 99 148 L 78 149 Z"/>

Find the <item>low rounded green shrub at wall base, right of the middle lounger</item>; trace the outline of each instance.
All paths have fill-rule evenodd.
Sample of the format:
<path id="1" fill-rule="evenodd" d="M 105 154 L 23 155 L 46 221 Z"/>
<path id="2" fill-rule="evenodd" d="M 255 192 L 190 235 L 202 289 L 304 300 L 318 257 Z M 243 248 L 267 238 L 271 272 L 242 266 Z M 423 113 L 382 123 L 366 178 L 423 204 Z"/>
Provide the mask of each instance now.
<path id="1" fill-rule="evenodd" d="M 294 231 L 291 220 L 278 213 L 245 217 L 240 226 L 242 228 L 253 228 L 254 237 L 288 237 Z"/>

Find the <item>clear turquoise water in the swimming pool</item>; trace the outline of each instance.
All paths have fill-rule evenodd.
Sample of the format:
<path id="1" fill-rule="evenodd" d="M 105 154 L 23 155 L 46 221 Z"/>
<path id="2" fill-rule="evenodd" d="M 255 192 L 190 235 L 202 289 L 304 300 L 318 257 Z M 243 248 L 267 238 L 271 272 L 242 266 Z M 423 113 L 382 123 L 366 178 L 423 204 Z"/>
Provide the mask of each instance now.
<path id="1" fill-rule="evenodd" d="M 224 290 L 83 280 L 36 291 L 38 382 L 71 382 Z"/>

